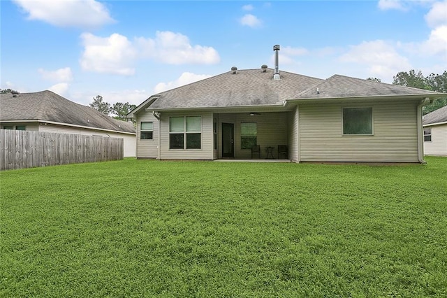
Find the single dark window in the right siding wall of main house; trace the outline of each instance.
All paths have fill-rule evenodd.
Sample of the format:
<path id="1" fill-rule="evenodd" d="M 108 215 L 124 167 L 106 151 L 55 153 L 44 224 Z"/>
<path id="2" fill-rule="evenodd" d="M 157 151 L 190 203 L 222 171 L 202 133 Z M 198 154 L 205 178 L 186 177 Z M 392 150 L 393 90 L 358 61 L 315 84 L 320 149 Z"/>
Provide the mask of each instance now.
<path id="1" fill-rule="evenodd" d="M 372 135 L 372 108 L 343 108 L 343 134 Z"/>

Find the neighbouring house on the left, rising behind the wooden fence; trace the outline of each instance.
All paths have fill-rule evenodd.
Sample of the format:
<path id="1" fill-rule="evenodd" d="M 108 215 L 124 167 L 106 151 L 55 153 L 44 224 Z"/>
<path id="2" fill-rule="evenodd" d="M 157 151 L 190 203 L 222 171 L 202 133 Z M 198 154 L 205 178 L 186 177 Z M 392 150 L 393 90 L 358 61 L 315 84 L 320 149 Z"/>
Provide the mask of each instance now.
<path id="1" fill-rule="evenodd" d="M 124 157 L 135 156 L 135 127 L 51 91 L 1 94 L 1 129 L 85 134 L 124 139 Z"/>

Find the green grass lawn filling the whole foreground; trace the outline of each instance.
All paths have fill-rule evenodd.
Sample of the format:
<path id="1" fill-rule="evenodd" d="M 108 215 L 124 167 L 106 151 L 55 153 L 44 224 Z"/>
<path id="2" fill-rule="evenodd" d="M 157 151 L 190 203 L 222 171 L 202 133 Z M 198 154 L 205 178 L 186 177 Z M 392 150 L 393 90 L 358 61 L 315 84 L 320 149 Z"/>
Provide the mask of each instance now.
<path id="1" fill-rule="evenodd" d="M 447 158 L 0 173 L 0 297 L 446 297 Z"/>

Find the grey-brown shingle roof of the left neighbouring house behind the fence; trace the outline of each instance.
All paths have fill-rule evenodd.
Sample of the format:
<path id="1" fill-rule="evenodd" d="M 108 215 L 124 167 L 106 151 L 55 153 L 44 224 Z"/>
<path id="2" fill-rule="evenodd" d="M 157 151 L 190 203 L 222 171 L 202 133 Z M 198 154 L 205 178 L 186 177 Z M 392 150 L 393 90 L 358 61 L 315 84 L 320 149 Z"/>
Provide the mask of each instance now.
<path id="1" fill-rule="evenodd" d="M 51 91 L 0 95 L 0 121 L 36 120 L 135 134 L 131 122 L 76 104 Z"/>

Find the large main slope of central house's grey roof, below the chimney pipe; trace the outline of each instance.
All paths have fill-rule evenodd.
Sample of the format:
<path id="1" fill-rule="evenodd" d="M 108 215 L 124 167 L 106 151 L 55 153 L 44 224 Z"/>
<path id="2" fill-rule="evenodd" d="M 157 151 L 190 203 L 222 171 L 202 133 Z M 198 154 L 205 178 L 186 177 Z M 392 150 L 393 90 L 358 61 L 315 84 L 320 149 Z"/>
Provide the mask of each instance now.
<path id="1" fill-rule="evenodd" d="M 151 108 L 207 108 L 229 106 L 267 106 L 282 104 L 284 99 L 321 83 L 296 73 L 281 71 L 281 80 L 273 80 L 273 69 L 244 69 L 221 73 L 196 83 L 161 92 Z"/>

